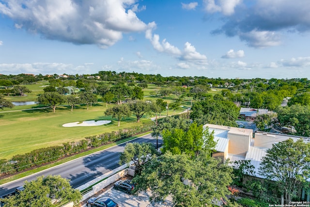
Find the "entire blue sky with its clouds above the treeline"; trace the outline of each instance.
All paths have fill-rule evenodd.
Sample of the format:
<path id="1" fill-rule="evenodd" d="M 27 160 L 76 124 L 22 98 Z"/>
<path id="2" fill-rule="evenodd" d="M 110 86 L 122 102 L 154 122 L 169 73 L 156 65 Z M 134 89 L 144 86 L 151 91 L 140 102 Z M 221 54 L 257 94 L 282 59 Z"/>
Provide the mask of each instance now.
<path id="1" fill-rule="evenodd" d="M 309 0 L 0 0 L 0 73 L 310 78 Z"/>

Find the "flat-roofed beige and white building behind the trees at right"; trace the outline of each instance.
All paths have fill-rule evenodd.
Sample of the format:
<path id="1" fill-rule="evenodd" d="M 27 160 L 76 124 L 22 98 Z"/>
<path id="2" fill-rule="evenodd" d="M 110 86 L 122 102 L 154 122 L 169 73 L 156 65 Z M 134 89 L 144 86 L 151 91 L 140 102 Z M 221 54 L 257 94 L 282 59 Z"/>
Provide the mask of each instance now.
<path id="1" fill-rule="evenodd" d="M 254 175 L 264 178 L 258 174 L 258 169 L 267 149 L 272 148 L 272 144 L 279 143 L 289 138 L 297 141 L 302 138 L 305 142 L 310 142 L 309 137 L 293 136 L 286 134 L 276 134 L 270 132 L 257 131 L 238 127 L 226 127 L 206 124 L 210 132 L 214 133 L 214 140 L 217 142 L 216 151 L 213 157 L 222 160 L 230 159 L 231 162 L 238 160 L 250 160 L 255 167 Z"/>

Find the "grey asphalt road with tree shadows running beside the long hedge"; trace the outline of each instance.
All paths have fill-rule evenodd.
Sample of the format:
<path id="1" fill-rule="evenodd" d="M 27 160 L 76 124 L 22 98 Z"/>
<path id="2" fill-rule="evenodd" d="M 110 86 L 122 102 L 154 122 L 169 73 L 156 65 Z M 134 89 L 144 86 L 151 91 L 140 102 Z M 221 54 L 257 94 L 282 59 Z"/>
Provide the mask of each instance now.
<path id="1" fill-rule="evenodd" d="M 150 134 L 139 137 L 130 142 L 153 143 L 156 147 L 156 139 L 152 138 Z M 158 145 L 161 146 L 161 143 L 162 140 L 158 137 Z M 94 178 L 119 167 L 118 162 L 120 152 L 124 151 L 125 145 L 126 143 L 122 143 L 91 155 L 63 163 L 56 167 L 49 168 L 25 178 L 3 184 L 0 186 L 0 196 L 14 191 L 18 186 L 22 186 L 25 180 L 31 181 L 41 175 L 61 175 L 63 178 L 70 179 L 70 184 L 73 188 L 77 188 L 78 186 L 81 186 Z"/>

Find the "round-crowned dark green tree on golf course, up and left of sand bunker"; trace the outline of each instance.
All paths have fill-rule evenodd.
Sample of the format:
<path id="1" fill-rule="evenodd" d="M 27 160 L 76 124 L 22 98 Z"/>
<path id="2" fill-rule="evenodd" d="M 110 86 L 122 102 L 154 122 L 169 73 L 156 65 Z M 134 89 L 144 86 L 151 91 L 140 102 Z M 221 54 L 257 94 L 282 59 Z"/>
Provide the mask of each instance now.
<path id="1" fill-rule="evenodd" d="M 58 92 L 47 92 L 38 97 L 39 104 L 48 105 L 55 113 L 56 107 L 64 102 L 64 98 Z"/>

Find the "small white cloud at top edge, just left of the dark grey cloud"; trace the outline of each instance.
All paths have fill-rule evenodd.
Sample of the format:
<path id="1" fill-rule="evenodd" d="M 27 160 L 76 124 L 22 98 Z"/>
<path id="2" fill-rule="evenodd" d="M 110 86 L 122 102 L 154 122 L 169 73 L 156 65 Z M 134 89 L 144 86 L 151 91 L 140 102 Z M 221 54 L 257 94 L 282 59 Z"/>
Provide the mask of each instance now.
<path id="1" fill-rule="evenodd" d="M 222 12 L 224 15 L 230 16 L 241 0 L 203 0 L 203 3 L 205 10 L 209 13 Z"/>

